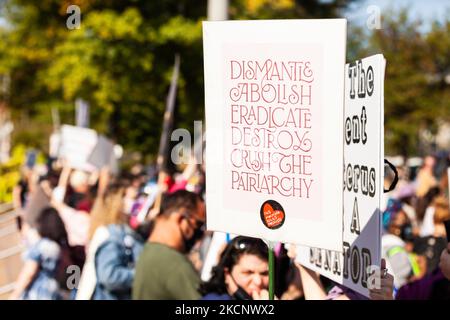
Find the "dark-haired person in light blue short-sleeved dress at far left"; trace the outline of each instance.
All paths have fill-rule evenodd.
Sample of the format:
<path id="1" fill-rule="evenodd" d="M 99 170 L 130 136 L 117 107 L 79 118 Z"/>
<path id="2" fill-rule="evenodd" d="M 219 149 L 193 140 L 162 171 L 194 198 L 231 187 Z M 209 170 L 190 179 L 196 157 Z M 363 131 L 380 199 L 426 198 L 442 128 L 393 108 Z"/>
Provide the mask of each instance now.
<path id="1" fill-rule="evenodd" d="M 39 240 L 26 252 L 12 300 L 60 300 L 61 263 L 68 248 L 64 223 L 54 208 L 42 210 L 36 220 Z"/>

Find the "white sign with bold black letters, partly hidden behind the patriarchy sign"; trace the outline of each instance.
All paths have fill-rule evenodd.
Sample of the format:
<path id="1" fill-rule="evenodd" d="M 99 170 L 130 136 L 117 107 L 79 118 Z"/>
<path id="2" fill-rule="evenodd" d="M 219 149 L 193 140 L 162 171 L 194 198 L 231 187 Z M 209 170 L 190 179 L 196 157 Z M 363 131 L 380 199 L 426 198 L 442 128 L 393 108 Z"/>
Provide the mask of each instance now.
<path id="1" fill-rule="evenodd" d="M 297 247 L 299 263 L 365 296 L 375 285 L 367 268 L 381 263 L 385 65 L 375 55 L 345 68 L 342 253 Z"/>

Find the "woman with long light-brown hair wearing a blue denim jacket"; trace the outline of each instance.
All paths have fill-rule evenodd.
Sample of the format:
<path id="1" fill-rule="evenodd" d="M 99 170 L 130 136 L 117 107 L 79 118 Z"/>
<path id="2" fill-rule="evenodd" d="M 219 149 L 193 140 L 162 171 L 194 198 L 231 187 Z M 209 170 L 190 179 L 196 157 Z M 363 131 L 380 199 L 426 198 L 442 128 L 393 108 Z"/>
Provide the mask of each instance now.
<path id="1" fill-rule="evenodd" d="M 90 244 L 77 299 L 131 298 L 134 266 L 144 239 L 128 226 L 127 186 L 111 185 L 97 197 L 91 213 Z"/>

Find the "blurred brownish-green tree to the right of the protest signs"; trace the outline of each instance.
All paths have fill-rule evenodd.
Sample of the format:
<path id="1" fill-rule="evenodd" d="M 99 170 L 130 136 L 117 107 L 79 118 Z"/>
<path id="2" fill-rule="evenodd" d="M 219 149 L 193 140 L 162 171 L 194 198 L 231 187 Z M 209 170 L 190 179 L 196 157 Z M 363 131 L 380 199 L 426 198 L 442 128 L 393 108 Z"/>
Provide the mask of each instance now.
<path id="1" fill-rule="evenodd" d="M 407 10 L 385 14 L 382 28 L 359 31 L 360 58 L 382 53 L 386 60 L 384 89 L 385 152 L 409 156 L 432 150 L 423 132 L 433 134 L 450 116 L 450 21 L 435 23 L 428 33 Z"/>

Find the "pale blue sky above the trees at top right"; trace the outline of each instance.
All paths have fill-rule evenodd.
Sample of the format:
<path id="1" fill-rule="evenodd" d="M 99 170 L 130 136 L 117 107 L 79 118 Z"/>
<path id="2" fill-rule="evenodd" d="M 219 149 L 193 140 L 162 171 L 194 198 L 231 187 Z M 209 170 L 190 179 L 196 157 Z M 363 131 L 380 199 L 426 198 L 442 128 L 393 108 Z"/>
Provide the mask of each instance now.
<path id="1" fill-rule="evenodd" d="M 422 32 L 428 31 L 434 20 L 443 22 L 450 19 L 449 0 L 359 0 L 346 10 L 344 17 L 350 24 L 364 26 L 370 14 L 367 9 L 371 5 L 379 7 L 381 16 L 388 14 L 390 9 L 407 8 L 411 18 L 423 20 Z"/>

